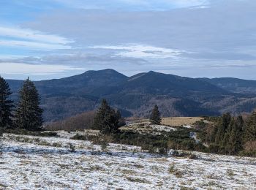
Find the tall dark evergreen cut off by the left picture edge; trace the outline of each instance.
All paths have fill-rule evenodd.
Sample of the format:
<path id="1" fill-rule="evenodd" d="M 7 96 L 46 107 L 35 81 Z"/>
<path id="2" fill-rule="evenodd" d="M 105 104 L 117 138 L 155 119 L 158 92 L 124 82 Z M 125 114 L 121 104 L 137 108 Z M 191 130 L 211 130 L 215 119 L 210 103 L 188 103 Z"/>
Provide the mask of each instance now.
<path id="1" fill-rule="evenodd" d="M 12 126 L 13 102 L 9 99 L 12 94 L 9 85 L 0 77 L 0 128 L 10 128 Z"/>

